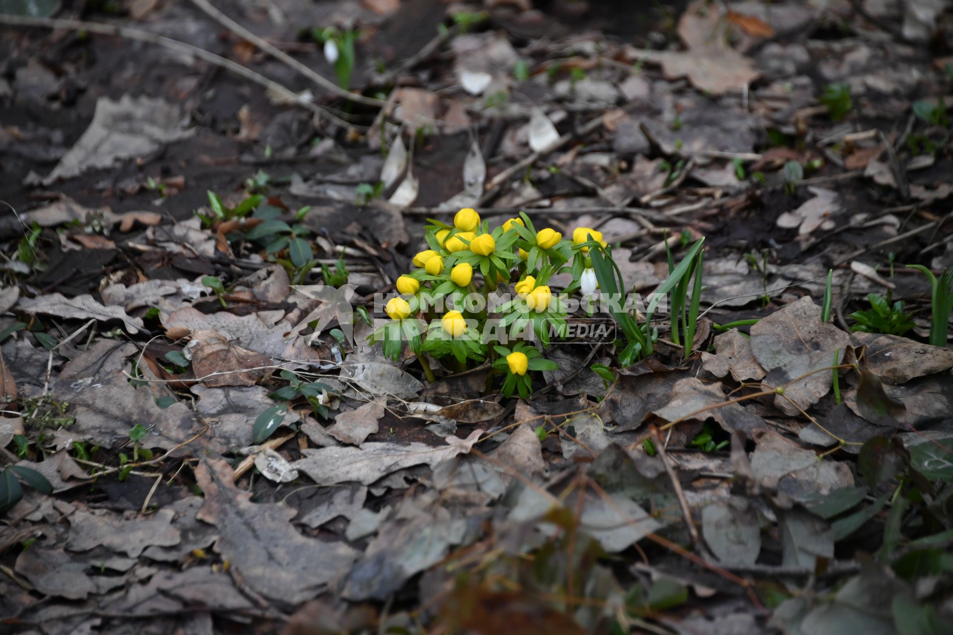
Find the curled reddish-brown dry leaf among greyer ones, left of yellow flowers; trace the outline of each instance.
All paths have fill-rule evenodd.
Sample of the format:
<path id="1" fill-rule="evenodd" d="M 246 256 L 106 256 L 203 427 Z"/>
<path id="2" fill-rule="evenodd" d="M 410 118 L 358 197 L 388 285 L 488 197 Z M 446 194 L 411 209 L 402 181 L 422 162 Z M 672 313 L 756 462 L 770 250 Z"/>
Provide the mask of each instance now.
<path id="1" fill-rule="evenodd" d="M 242 348 L 213 330 L 196 330 L 189 348 L 192 368 L 203 386 L 254 386 L 272 374 L 272 358 Z M 211 376 L 210 376 L 211 375 Z"/>

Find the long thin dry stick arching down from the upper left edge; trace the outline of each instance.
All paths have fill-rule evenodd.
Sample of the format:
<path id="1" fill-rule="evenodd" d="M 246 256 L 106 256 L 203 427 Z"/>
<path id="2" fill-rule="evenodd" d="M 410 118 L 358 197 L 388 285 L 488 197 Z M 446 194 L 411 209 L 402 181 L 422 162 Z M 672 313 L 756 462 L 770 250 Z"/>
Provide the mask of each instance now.
<path id="1" fill-rule="evenodd" d="M 264 75 L 256 73 L 252 69 L 246 69 L 242 65 L 236 64 L 232 60 L 226 59 L 221 55 L 216 55 L 209 50 L 200 49 L 191 44 L 180 42 L 179 40 L 173 40 L 172 38 L 166 37 L 165 35 L 158 35 L 157 33 L 152 33 L 148 30 L 130 29 L 128 27 L 103 24 L 101 22 L 85 22 L 83 20 L 68 20 L 58 18 L 34 18 L 22 15 L 6 14 L 0 14 L 0 25 L 9 25 L 14 27 L 40 27 L 46 29 L 87 30 L 91 33 L 115 35 L 118 37 L 124 37 L 127 40 L 146 42 L 147 44 L 154 44 L 160 47 L 165 47 L 166 49 L 189 53 L 195 57 L 205 60 L 206 62 L 209 62 L 210 64 L 222 67 L 223 69 L 231 70 L 233 73 L 241 75 L 245 79 L 265 87 L 265 89 L 270 90 L 274 95 L 281 97 L 281 99 L 292 103 L 295 106 L 301 106 L 302 108 L 309 109 L 323 117 L 327 117 L 338 126 L 343 128 L 352 126 L 352 124 L 349 124 L 343 119 L 337 117 L 328 109 L 321 108 L 317 104 L 302 98 L 293 90 L 285 88 L 281 84 L 268 79 Z"/>

